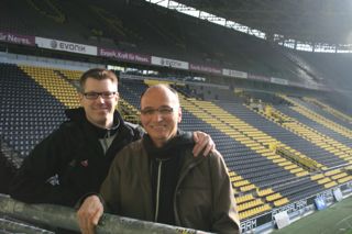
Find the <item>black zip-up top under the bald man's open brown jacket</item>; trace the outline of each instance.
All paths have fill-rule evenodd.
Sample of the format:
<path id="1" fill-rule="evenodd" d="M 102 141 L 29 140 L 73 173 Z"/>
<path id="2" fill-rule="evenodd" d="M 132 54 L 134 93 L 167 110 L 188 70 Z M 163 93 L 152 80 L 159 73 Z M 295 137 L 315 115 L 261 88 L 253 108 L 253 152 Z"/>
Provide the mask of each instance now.
<path id="1" fill-rule="evenodd" d="M 148 134 L 143 136 L 143 146 L 150 158 L 155 222 L 176 225 L 173 205 L 175 188 L 186 148 L 191 149 L 194 145 L 190 132 L 178 131 L 177 136 L 162 147 L 155 147 Z"/>

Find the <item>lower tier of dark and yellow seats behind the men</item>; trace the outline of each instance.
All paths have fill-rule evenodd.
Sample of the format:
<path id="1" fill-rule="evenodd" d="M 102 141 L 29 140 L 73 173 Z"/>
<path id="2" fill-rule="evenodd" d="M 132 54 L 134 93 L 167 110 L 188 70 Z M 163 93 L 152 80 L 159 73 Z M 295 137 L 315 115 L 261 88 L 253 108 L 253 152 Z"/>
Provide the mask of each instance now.
<path id="1" fill-rule="evenodd" d="M 78 105 L 80 74 L 0 64 L 2 142 L 25 157 L 65 120 L 65 108 Z M 157 82 L 165 81 L 121 79 L 124 113 L 138 114 L 141 93 Z M 351 181 L 344 169 L 352 161 L 351 127 L 333 108 L 285 96 L 268 98 L 262 109 L 234 93 L 232 101 L 205 101 L 170 83 L 183 107 L 180 127 L 209 133 L 223 155 L 242 222 Z"/>

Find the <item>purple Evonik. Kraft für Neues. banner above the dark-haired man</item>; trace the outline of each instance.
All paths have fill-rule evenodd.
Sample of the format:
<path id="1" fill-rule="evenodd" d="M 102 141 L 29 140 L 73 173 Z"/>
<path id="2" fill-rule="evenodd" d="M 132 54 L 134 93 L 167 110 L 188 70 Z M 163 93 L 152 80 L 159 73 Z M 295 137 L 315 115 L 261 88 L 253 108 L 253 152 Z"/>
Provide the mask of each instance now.
<path id="1" fill-rule="evenodd" d="M 151 64 L 151 56 L 148 55 L 120 52 L 117 49 L 99 48 L 98 55 L 101 57 L 109 57 L 118 60 L 135 62 L 140 64 Z"/>

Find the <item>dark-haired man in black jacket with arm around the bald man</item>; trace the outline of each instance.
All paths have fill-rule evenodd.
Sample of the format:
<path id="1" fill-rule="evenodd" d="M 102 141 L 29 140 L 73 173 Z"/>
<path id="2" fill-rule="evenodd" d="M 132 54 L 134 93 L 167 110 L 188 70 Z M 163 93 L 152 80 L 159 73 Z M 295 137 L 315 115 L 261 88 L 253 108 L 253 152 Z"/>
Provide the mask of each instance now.
<path id="1" fill-rule="evenodd" d="M 24 159 L 11 186 L 12 198 L 29 203 L 73 207 L 88 192 L 98 192 L 111 161 L 143 130 L 124 122 L 116 110 L 119 101 L 114 73 L 94 68 L 80 78 L 82 108 L 66 110 L 61 124 Z M 211 138 L 197 132 L 195 155 L 213 148 Z"/>

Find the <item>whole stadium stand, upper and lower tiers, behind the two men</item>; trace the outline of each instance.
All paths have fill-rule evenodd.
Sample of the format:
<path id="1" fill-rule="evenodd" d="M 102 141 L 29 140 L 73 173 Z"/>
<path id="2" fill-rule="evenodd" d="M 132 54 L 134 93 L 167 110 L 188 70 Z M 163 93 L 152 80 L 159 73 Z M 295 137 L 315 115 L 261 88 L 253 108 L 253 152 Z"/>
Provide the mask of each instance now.
<path id="1" fill-rule="evenodd" d="M 168 82 L 179 92 L 180 127 L 205 131 L 216 142 L 229 169 L 244 232 L 274 227 L 274 215 L 280 211 L 290 215 L 310 212 L 319 197 L 333 203 L 336 190 L 351 194 L 350 55 L 293 52 L 143 0 L 4 0 L 1 32 L 145 53 L 304 85 L 326 83 L 332 91 L 321 96 L 304 86 L 298 92 L 287 85 L 243 77 L 205 75 L 207 81 L 197 82 L 185 76 L 199 74 L 170 66 L 73 56 L 158 71 L 158 79 L 121 73 L 119 110 L 128 121 L 139 122 L 140 96 L 147 86 Z M 0 45 L 25 54 L 21 46 Z M 33 47 L 30 54 L 45 54 Z M 7 193 L 11 177 L 34 145 L 66 120 L 64 110 L 79 105 L 76 89 L 81 71 L 42 65 L 0 63 L 1 193 Z M 239 87 L 243 89 L 235 89 Z M 297 93 L 283 94 L 285 88 Z"/>

